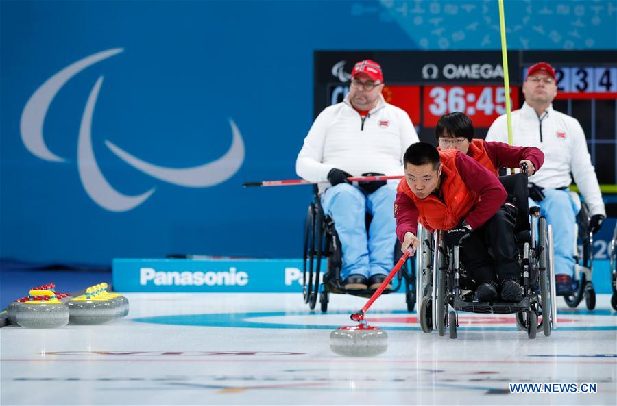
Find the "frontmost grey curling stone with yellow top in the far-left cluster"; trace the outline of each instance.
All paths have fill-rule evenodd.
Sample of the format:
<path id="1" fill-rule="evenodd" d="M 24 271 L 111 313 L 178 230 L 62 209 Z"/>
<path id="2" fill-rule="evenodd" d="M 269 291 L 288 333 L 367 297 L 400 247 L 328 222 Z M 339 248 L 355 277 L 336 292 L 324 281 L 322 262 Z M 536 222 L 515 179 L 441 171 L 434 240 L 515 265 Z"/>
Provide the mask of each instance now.
<path id="1" fill-rule="evenodd" d="M 30 299 L 15 307 L 15 321 L 30 329 L 53 329 L 69 322 L 69 308 L 51 290 L 31 290 Z"/>

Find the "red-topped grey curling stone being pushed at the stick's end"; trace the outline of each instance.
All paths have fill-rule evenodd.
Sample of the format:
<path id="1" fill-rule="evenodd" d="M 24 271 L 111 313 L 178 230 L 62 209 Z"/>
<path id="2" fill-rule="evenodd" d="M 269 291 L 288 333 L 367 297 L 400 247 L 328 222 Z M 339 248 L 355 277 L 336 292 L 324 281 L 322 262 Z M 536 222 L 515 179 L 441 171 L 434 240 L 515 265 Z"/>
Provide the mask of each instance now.
<path id="1" fill-rule="evenodd" d="M 365 322 L 354 327 L 339 327 L 330 333 L 330 349 L 346 357 L 373 357 L 388 349 L 388 335 Z"/>

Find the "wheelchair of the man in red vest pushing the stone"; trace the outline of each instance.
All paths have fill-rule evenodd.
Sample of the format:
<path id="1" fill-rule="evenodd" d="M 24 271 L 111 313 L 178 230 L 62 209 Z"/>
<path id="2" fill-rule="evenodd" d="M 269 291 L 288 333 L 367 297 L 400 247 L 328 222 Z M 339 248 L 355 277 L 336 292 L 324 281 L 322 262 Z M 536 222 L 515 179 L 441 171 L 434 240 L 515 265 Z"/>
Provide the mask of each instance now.
<path id="1" fill-rule="evenodd" d="M 523 298 L 518 303 L 475 300 L 474 283 L 459 259 L 459 250 L 464 246 L 448 248 L 443 231 L 431 235 L 422 228 L 418 231 L 422 246 L 418 250 L 420 264 L 416 275 L 418 294 L 422 292 L 418 322 L 424 333 L 437 329 L 439 335 L 444 336 L 448 329 L 450 338 L 457 338 L 459 311 L 516 314 L 516 324 L 527 331 L 530 339 L 535 338 L 539 329 L 548 337 L 557 327 L 552 228 L 547 225 L 546 218 L 540 216 L 540 207 L 528 207 L 526 175 L 518 173 L 501 177 L 500 180 L 505 183 L 506 190 L 514 188 L 517 191 L 513 201 L 519 215 L 514 231 L 522 270 Z"/>

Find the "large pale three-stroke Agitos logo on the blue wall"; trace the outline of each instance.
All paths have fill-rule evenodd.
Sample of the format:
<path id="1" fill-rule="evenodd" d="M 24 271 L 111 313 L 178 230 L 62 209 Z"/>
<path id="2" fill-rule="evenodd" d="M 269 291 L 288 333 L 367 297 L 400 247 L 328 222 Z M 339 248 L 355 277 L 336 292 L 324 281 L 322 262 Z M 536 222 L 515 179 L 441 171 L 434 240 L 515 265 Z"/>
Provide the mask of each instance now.
<path id="1" fill-rule="evenodd" d="M 123 52 L 121 48 L 108 49 L 90 55 L 82 60 L 66 66 L 45 81 L 27 101 L 21 114 L 21 139 L 25 147 L 36 157 L 50 162 L 66 162 L 66 159 L 51 152 L 43 139 L 43 123 L 47 110 L 56 94 L 72 77 L 80 73 L 88 66 L 110 58 Z M 97 205 L 112 212 L 125 212 L 141 205 L 155 191 L 153 186 L 150 190 L 136 196 L 121 194 L 115 190 L 105 179 L 97 161 L 92 145 L 92 120 L 99 96 L 99 90 L 103 84 L 103 76 L 95 82 L 84 107 L 77 138 L 77 170 L 90 199 Z M 187 188 L 206 188 L 215 186 L 232 177 L 242 166 L 244 160 L 244 142 L 240 131 L 233 120 L 229 120 L 232 131 L 232 145 L 228 151 L 217 160 L 191 168 L 169 168 L 145 162 L 138 157 L 124 151 L 109 140 L 106 146 L 121 160 L 133 168 L 160 181 L 166 181 Z"/>

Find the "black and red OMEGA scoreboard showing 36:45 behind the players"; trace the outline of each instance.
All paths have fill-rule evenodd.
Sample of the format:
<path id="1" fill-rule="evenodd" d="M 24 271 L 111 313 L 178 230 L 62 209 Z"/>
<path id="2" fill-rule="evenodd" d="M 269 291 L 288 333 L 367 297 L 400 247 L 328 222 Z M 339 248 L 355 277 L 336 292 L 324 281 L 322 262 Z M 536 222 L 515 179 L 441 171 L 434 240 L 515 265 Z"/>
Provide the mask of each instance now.
<path id="1" fill-rule="evenodd" d="M 409 114 L 424 142 L 435 144 L 435 124 L 446 113 L 465 112 L 476 137 L 484 138 L 506 112 L 500 51 L 316 51 L 314 56 L 315 116 L 343 100 L 353 64 L 365 59 L 382 66 L 383 96 Z M 555 68 L 553 107 L 581 123 L 603 191 L 617 190 L 617 51 L 508 51 L 512 110 L 524 101 L 527 69 L 540 61 Z"/>

